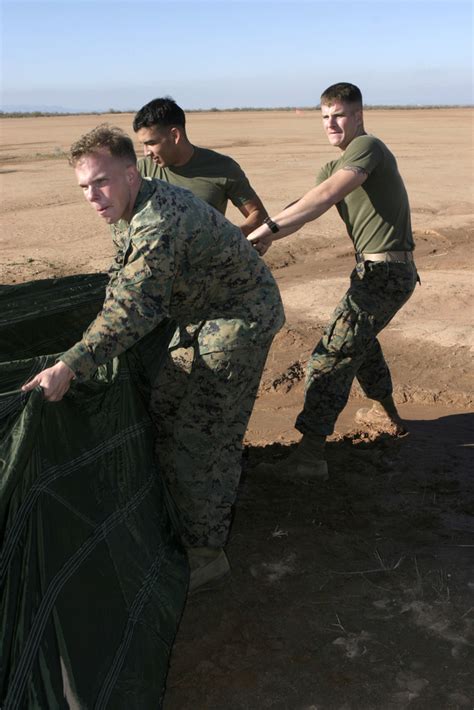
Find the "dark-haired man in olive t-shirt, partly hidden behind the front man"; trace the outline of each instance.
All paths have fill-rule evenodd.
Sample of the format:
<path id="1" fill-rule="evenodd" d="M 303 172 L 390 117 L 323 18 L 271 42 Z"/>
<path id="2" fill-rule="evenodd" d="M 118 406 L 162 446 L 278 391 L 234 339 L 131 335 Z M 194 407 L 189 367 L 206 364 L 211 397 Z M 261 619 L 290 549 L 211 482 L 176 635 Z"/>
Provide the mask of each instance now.
<path id="1" fill-rule="evenodd" d="M 143 177 L 185 187 L 225 214 L 230 200 L 244 216 L 245 235 L 262 224 L 267 212 L 242 168 L 232 158 L 193 145 L 186 134 L 186 116 L 173 99 L 153 99 L 135 115 L 133 130 L 143 144 L 138 161 Z"/>

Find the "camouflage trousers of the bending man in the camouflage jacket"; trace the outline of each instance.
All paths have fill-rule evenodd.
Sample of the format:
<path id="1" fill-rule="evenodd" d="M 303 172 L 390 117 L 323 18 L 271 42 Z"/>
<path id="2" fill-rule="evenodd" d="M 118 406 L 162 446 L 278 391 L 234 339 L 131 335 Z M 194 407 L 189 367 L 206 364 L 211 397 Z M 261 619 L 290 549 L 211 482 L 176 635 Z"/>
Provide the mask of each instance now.
<path id="1" fill-rule="evenodd" d="M 272 338 L 200 353 L 170 349 L 151 397 L 157 455 L 186 546 L 225 545 L 241 474 L 243 438 Z"/>

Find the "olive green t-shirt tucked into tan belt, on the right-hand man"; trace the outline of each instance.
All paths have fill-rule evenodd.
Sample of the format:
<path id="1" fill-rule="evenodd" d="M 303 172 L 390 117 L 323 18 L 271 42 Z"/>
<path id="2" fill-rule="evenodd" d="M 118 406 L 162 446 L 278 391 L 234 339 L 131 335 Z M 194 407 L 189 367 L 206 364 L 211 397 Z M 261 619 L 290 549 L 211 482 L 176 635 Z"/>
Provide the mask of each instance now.
<path id="1" fill-rule="evenodd" d="M 412 251 L 410 205 L 394 155 L 378 138 L 358 136 L 321 169 L 317 184 L 346 166 L 368 173 L 363 185 L 336 204 L 356 252 Z"/>

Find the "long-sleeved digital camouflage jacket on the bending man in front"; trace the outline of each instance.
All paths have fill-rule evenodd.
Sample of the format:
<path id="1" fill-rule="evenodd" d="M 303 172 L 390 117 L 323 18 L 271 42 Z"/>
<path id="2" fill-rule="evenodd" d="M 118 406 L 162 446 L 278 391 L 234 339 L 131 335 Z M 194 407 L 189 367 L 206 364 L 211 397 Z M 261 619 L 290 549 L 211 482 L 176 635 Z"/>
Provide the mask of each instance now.
<path id="1" fill-rule="evenodd" d="M 201 352 L 265 343 L 281 328 L 270 270 L 238 227 L 189 190 L 143 180 L 130 223 L 112 231 L 117 253 L 102 310 L 61 355 L 78 380 L 165 318 L 182 332 L 201 324 Z"/>

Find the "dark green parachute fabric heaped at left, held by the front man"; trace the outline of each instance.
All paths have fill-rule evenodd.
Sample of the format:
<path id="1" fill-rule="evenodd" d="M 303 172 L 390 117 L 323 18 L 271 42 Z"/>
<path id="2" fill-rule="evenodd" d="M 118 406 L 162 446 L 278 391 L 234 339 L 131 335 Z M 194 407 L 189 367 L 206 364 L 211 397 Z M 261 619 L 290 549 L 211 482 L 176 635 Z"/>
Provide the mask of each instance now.
<path id="1" fill-rule="evenodd" d="M 80 338 L 106 281 L 0 287 L 2 710 L 162 703 L 188 567 L 146 388 L 173 326 L 59 403 L 20 389 Z"/>

